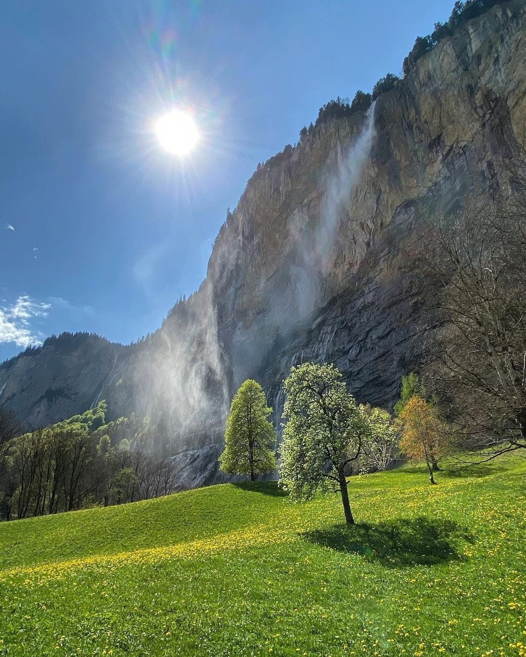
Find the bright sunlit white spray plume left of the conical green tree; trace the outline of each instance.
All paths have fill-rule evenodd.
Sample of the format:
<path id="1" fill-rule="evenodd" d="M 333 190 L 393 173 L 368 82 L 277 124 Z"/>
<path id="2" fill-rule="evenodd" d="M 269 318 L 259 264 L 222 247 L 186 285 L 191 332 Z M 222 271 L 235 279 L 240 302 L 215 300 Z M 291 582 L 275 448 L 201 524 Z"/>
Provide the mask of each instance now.
<path id="1" fill-rule="evenodd" d="M 135 348 L 133 407 L 181 449 L 210 442 L 229 401 L 210 283 L 177 304 L 162 328 Z"/>

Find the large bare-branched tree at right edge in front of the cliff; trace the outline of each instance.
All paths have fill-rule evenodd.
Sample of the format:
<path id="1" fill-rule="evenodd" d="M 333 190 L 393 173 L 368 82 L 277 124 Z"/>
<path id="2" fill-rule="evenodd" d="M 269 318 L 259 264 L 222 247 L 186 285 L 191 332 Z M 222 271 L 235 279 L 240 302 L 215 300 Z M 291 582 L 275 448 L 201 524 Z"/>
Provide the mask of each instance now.
<path id="1" fill-rule="evenodd" d="M 427 381 L 456 446 L 487 458 L 526 448 L 526 206 L 514 198 L 435 218 L 420 240 L 437 327 Z"/>

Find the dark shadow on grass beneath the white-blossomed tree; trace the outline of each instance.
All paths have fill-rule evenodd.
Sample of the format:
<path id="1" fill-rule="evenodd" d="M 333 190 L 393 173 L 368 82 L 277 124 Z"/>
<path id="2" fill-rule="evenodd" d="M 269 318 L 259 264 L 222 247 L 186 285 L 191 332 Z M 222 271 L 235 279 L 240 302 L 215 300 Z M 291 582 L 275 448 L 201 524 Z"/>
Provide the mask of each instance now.
<path id="1" fill-rule="evenodd" d="M 393 522 L 339 524 L 300 534 L 312 543 L 341 552 L 356 553 L 389 568 L 432 566 L 462 560 L 458 542 L 473 537 L 452 520 L 399 518 Z"/>

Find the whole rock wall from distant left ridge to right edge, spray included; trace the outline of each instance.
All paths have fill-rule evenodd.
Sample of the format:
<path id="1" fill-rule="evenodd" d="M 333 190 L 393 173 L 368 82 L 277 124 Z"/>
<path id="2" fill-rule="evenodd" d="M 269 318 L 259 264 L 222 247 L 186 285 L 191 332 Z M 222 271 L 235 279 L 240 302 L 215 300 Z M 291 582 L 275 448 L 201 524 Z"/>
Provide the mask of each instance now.
<path id="1" fill-rule="evenodd" d="M 525 95 L 526 9 L 510 0 L 436 45 L 368 116 L 322 124 L 256 172 L 203 285 L 155 335 L 105 344 L 104 357 L 23 354 L 0 366 L 0 403 L 35 425 L 105 398 L 110 415 L 162 418 L 181 451 L 219 439 L 247 376 L 279 416 L 281 380 L 301 361 L 334 361 L 360 400 L 391 406 L 423 349 L 413 222 L 494 196 L 526 131 Z"/>

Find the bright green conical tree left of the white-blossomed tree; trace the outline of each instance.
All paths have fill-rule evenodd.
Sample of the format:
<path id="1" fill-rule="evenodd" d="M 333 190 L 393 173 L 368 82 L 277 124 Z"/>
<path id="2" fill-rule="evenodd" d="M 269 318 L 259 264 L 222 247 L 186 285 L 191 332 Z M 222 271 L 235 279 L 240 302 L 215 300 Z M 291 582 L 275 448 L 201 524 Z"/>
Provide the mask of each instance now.
<path id="1" fill-rule="evenodd" d="M 219 458 L 226 474 L 250 476 L 276 468 L 273 447 L 276 443 L 274 425 L 268 420 L 272 408 L 267 405 L 263 388 L 249 378 L 233 396 L 226 421 L 225 449 Z"/>

